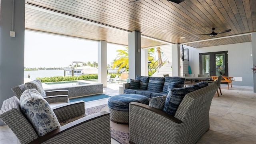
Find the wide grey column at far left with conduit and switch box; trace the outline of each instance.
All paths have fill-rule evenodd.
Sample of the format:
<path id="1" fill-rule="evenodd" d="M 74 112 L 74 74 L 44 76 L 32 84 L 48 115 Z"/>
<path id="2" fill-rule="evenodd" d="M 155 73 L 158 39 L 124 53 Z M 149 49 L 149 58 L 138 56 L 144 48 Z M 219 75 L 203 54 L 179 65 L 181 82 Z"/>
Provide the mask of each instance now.
<path id="1" fill-rule="evenodd" d="M 11 88 L 24 83 L 25 0 L 1 0 L 0 12 L 0 108 L 14 96 Z M 15 37 L 10 37 L 10 31 Z M 0 125 L 4 123 L 0 120 Z"/>

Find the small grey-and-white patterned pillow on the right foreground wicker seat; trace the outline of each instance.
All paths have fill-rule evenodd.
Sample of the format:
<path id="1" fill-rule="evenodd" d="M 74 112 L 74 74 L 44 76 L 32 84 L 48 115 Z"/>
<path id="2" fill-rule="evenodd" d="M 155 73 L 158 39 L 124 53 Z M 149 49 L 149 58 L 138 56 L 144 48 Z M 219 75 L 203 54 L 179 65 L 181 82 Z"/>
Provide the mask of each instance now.
<path id="1" fill-rule="evenodd" d="M 149 106 L 162 110 L 164 108 L 166 97 L 167 95 L 149 98 Z"/>

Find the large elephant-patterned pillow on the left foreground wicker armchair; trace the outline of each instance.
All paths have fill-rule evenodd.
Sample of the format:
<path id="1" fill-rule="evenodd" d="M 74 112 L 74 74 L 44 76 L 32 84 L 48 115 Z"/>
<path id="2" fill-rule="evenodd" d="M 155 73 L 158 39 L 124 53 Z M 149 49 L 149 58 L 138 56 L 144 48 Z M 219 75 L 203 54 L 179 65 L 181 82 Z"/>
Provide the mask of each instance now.
<path id="1" fill-rule="evenodd" d="M 28 89 L 22 93 L 20 108 L 38 136 L 60 128 L 60 123 L 50 105 L 36 89 Z"/>

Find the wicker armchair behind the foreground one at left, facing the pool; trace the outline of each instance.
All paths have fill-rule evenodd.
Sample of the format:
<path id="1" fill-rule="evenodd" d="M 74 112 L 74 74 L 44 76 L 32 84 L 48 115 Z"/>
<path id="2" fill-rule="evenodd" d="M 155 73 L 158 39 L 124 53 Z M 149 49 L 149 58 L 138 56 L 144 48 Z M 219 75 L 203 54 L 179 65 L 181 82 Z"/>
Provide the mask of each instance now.
<path id="1" fill-rule="evenodd" d="M 40 82 L 40 87 L 42 87 L 42 83 Z M 26 90 L 25 89 L 25 84 L 21 84 L 19 86 L 15 86 L 13 88 L 11 88 L 12 91 L 14 92 L 15 96 L 20 99 L 20 96 L 22 95 L 22 93 Z M 37 88 L 36 88 L 37 89 Z M 53 90 L 53 91 L 48 91 L 45 92 L 46 97 L 44 97 L 44 99 L 52 106 L 56 106 L 58 104 L 64 104 L 64 103 L 68 103 L 68 90 Z M 55 105 L 53 104 L 55 103 Z"/>

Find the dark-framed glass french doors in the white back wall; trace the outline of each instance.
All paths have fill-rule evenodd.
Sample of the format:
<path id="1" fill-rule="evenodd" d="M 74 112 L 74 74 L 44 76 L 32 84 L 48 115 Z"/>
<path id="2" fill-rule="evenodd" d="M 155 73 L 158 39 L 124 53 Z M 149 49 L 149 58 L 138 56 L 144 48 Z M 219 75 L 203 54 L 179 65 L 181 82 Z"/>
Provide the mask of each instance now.
<path id="1" fill-rule="evenodd" d="M 200 74 L 228 76 L 228 51 L 199 54 Z"/>

